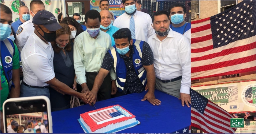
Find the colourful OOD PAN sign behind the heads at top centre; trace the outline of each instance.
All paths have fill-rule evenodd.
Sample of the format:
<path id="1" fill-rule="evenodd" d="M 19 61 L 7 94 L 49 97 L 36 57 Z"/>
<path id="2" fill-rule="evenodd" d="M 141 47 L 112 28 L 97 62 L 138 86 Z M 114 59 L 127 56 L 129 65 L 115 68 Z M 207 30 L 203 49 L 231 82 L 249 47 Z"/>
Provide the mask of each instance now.
<path id="1" fill-rule="evenodd" d="M 121 7 L 122 0 L 110 0 L 110 9 L 109 11 L 113 12 L 115 16 L 120 16 L 125 13 L 125 8 Z M 90 0 L 90 10 L 94 9 L 100 12 L 100 0 Z"/>

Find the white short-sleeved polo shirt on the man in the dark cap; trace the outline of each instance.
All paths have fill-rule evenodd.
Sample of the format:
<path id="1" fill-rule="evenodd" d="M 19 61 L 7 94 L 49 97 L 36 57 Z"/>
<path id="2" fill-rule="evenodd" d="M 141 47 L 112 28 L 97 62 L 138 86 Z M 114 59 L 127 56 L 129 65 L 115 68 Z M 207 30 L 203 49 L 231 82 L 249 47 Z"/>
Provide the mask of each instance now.
<path id="1" fill-rule="evenodd" d="M 46 44 L 33 32 L 21 51 L 23 81 L 30 86 L 48 86 L 45 82 L 55 77 L 53 56 L 51 43 Z"/>

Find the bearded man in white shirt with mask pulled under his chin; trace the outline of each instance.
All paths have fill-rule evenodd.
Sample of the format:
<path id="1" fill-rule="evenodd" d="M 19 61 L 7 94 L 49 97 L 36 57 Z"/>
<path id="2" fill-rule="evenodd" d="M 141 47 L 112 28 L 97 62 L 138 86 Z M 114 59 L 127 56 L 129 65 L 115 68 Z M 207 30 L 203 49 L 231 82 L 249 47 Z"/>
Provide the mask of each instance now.
<path id="1" fill-rule="evenodd" d="M 154 54 L 156 89 L 191 104 L 191 48 L 188 39 L 169 27 L 167 11 L 157 11 L 153 17 L 155 34 L 148 43 Z"/>

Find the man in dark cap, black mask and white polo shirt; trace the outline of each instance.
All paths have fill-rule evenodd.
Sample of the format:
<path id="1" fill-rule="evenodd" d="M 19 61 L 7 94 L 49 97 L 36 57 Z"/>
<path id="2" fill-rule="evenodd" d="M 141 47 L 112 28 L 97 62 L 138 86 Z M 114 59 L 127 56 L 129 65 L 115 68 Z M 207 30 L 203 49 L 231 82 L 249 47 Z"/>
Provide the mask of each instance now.
<path id="1" fill-rule="evenodd" d="M 73 95 L 85 102 L 85 94 L 55 78 L 51 42 L 56 39 L 56 30 L 62 28 L 55 16 L 49 11 L 39 11 L 32 22 L 34 32 L 21 51 L 24 77 L 20 97 L 44 95 L 50 98 L 48 87 L 51 86 L 60 93 Z"/>

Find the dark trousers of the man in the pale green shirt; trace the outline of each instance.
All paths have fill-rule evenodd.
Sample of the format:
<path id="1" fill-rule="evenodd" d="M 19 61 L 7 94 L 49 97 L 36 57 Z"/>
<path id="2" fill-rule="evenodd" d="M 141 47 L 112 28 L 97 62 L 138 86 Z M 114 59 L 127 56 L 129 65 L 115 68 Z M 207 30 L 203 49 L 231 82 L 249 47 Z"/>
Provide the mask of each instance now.
<path id="1" fill-rule="evenodd" d="M 89 90 L 92 90 L 93 83 L 95 80 L 95 77 L 97 76 L 96 72 L 86 72 L 86 84 L 89 88 Z M 103 80 L 103 83 L 100 86 L 100 89 L 97 94 L 97 101 L 103 101 L 105 99 L 111 98 L 111 77 L 110 73 L 105 77 Z"/>

